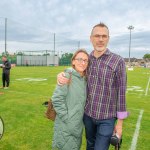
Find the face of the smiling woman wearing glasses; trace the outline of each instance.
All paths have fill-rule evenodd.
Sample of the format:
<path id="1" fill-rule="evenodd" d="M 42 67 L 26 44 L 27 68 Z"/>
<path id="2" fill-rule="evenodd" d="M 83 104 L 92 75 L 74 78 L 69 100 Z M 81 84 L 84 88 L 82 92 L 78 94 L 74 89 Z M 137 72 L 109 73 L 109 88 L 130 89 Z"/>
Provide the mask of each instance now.
<path id="1" fill-rule="evenodd" d="M 89 60 L 88 56 L 85 53 L 80 52 L 76 55 L 76 57 L 72 61 L 72 64 L 74 65 L 75 70 L 77 72 L 83 74 L 83 72 L 86 70 L 88 66 L 88 60 Z"/>

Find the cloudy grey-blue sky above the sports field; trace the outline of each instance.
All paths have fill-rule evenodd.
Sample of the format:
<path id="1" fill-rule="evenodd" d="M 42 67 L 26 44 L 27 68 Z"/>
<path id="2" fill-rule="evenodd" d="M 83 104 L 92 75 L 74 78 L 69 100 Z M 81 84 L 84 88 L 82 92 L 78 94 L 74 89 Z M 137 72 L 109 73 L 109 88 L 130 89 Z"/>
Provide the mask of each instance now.
<path id="1" fill-rule="evenodd" d="M 74 52 L 78 47 L 92 51 L 92 27 L 104 22 L 110 30 L 108 48 L 129 56 L 129 30 L 132 30 L 131 57 L 150 53 L 150 1 L 148 0 L 1 0 L 0 53 L 7 50 L 55 50 Z"/>

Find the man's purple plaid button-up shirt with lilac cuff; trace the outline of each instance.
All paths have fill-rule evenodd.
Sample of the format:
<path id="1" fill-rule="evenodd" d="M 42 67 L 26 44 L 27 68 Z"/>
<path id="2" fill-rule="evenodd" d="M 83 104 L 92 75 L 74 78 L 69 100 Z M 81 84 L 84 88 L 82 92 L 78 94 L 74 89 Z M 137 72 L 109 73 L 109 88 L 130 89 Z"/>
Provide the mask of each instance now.
<path id="1" fill-rule="evenodd" d="M 87 70 L 85 113 L 95 119 L 124 119 L 126 111 L 126 68 L 124 59 L 108 49 L 99 57 L 90 54 Z"/>

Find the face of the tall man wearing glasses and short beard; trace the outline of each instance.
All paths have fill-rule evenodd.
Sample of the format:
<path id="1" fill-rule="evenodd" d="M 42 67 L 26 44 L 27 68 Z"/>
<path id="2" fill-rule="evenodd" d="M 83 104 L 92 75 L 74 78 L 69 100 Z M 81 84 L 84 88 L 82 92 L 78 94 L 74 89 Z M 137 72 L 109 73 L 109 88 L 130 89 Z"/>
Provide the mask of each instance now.
<path id="1" fill-rule="evenodd" d="M 109 41 L 109 33 L 106 27 L 95 27 L 91 33 L 90 40 L 94 50 L 98 52 L 105 51 Z"/>

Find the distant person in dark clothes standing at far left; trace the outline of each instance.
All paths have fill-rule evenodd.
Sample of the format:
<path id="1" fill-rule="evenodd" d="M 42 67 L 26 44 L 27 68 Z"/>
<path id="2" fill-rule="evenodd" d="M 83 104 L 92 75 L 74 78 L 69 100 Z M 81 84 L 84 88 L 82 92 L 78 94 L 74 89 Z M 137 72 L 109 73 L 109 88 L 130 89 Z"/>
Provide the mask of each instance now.
<path id="1" fill-rule="evenodd" d="M 3 64 L 1 68 L 3 69 L 2 71 L 2 82 L 3 82 L 3 88 L 8 89 L 9 87 L 9 82 L 10 82 L 10 69 L 11 69 L 11 64 L 7 60 L 6 56 L 2 57 Z"/>

